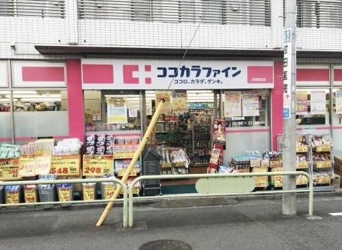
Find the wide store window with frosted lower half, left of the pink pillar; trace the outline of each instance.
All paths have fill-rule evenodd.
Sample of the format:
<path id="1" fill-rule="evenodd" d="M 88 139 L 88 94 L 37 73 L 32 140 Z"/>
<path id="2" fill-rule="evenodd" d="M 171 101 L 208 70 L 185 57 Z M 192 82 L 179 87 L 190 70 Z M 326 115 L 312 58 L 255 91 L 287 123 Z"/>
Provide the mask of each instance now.
<path id="1" fill-rule="evenodd" d="M 66 90 L 14 90 L 14 142 L 68 136 Z"/>

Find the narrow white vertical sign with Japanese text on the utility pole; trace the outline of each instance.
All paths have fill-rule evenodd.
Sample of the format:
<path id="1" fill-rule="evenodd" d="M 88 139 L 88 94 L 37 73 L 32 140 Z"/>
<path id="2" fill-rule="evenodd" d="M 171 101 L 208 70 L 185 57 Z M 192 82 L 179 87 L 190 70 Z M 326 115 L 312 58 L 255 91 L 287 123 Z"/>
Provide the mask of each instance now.
<path id="1" fill-rule="evenodd" d="M 291 118 L 291 29 L 285 29 L 284 33 L 284 85 L 283 85 L 283 111 L 282 118 Z"/>

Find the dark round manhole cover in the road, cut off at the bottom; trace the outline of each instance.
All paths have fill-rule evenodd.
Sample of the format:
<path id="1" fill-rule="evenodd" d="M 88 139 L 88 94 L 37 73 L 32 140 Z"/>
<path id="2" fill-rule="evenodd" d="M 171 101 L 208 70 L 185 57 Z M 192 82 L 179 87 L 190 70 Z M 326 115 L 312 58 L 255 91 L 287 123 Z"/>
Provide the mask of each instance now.
<path id="1" fill-rule="evenodd" d="M 139 250 L 192 250 L 192 247 L 178 240 L 155 240 L 142 245 Z"/>

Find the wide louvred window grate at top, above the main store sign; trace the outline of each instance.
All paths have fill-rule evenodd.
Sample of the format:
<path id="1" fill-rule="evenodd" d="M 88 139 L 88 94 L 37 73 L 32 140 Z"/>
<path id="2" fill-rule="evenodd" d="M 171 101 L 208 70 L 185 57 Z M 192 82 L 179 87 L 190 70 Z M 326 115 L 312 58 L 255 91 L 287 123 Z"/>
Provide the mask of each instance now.
<path id="1" fill-rule="evenodd" d="M 210 4 L 209 4 L 210 3 Z M 270 0 L 78 0 L 79 19 L 271 25 Z M 204 17 L 203 17 L 204 16 Z"/>

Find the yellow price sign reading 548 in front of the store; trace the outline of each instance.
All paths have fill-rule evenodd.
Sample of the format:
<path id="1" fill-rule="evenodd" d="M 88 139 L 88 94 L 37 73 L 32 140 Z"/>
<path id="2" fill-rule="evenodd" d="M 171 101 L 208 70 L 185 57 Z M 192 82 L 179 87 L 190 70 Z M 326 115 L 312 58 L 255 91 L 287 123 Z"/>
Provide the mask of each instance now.
<path id="1" fill-rule="evenodd" d="M 55 175 L 79 175 L 81 155 L 52 155 L 51 173 Z"/>

